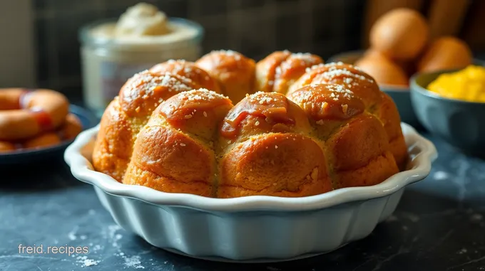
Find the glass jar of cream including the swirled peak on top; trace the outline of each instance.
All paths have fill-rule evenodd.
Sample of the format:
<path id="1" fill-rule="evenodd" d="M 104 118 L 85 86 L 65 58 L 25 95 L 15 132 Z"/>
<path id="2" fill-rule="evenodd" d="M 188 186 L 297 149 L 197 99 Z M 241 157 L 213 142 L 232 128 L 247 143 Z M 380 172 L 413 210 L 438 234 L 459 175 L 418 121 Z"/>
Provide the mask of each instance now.
<path id="1" fill-rule="evenodd" d="M 118 20 L 85 26 L 80 34 L 84 102 L 101 116 L 135 73 L 169 59 L 200 58 L 203 29 L 141 3 Z"/>

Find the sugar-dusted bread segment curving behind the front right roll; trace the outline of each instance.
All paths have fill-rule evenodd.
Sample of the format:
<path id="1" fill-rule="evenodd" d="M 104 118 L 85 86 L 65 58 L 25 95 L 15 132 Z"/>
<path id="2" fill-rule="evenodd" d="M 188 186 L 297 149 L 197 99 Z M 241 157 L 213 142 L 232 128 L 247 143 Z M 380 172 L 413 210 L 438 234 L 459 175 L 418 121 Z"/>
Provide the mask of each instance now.
<path id="1" fill-rule="evenodd" d="M 394 159 L 399 169 L 404 169 L 408 156 L 400 125 L 401 118 L 392 98 L 379 90 L 374 78 L 354 65 L 344 63 L 316 65 L 308 69 L 307 73 L 290 87 L 288 95 L 301 87 L 320 83 L 342 85 L 362 99 L 366 111 L 384 124 Z"/>

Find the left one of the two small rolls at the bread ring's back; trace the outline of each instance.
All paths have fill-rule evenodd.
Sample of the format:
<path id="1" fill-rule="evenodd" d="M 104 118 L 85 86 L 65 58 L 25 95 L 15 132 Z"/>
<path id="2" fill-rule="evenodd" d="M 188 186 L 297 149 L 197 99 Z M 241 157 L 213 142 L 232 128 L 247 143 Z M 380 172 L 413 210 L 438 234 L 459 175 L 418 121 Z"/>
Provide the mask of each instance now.
<path id="1" fill-rule="evenodd" d="M 235 51 L 212 51 L 195 62 L 234 103 L 255 92 L 255 61 Z"/>

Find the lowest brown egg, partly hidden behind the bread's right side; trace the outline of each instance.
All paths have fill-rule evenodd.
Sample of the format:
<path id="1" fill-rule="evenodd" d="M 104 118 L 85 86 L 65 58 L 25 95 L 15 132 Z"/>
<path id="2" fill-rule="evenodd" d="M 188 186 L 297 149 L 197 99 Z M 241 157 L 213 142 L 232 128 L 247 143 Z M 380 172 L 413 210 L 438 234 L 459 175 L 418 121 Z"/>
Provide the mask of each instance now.
<path id="1" fill-rule="evenodd" d="M 379 85 L 407 85 L 408 78 L 399 65 L 379 53 L 367 53 L 355 65 L 371 75 Z"/>

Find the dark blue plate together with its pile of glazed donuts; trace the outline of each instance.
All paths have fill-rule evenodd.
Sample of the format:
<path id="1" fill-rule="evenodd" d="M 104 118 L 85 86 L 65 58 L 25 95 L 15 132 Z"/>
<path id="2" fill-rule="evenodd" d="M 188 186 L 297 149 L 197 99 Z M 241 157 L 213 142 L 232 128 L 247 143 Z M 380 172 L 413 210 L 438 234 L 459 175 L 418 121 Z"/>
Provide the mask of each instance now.
<path id="1" fill-rule="evenodd" d="M 61 157 L 96 117 L 53 90 L 0 89 L 0 164 Z"/>

